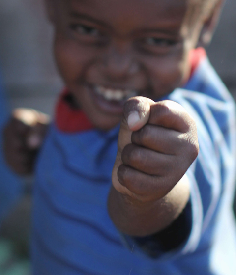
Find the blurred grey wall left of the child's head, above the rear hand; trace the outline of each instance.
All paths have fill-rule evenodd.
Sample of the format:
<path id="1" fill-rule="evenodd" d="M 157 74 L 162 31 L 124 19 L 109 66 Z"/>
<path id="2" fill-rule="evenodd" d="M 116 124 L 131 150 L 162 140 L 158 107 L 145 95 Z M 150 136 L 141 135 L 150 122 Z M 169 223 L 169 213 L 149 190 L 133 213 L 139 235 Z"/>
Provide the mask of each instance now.
<path id="1" fill-rule="evenodd" d="M 11 107 L 52 113 L 61 89 L 43 0 L 0 0 L 0 67 Z"/>

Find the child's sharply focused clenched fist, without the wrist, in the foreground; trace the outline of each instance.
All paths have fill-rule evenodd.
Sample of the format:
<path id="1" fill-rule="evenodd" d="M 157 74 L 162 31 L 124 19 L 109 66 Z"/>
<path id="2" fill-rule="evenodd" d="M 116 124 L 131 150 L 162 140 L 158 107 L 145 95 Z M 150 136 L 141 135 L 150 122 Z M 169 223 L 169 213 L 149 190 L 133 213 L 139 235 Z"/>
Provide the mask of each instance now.
<path id="1" fill-rule="evenodd" d="M 198 151 L 195 122 L 181 105 L 131 98 L 124 106 L 113 186 L 135 200 L 159 200 L 184 176 Z"/>

